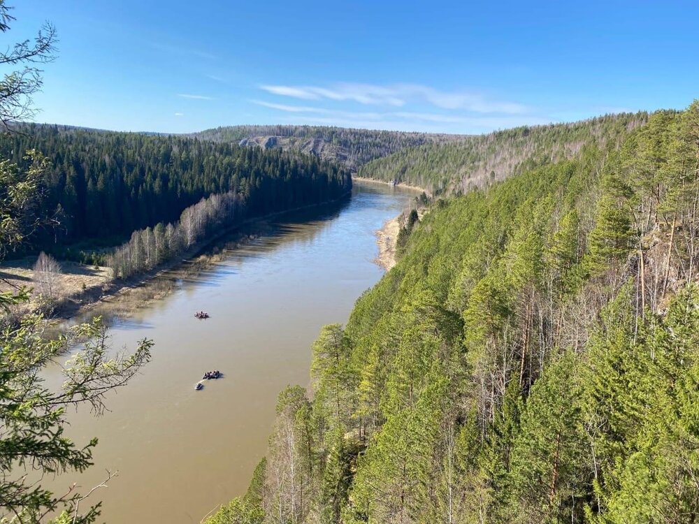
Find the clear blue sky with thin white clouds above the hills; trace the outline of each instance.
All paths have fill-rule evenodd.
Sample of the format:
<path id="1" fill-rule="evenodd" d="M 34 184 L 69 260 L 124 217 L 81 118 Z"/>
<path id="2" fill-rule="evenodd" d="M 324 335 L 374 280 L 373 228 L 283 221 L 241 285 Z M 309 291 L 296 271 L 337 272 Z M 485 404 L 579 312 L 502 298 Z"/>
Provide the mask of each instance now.
<path id="1" fill-rule="evenodd" d="M 59 57 L 38 122 L 483 133 L 699 97 L 696 1 L 8 0 Z"/>

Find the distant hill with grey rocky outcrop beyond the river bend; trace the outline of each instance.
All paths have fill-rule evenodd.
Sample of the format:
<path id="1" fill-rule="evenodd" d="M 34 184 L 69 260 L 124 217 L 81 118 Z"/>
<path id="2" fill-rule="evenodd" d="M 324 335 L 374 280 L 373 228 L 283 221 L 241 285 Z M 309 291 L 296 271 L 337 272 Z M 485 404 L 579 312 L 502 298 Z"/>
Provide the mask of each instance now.
<path id="1" fill-rule="evenodd" d="M 228 126 L 195 133 L 194 136 L 217 142 L 259 145 L 265 149 L 282 148 L 315 154 L 336 160 L 352 171 L 370 160 L 385 157 L 405 147 L 452 142 L 464 136 L 402 131 L 370 131 L 326 126 Z"/>

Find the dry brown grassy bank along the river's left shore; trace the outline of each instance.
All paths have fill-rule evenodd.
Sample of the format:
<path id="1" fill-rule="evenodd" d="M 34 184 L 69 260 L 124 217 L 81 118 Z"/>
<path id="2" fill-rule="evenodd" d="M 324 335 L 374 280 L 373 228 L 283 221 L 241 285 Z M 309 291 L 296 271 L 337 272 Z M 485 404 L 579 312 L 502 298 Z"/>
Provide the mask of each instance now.
<path id="1" fill-rule="evenodd" d="M 195 242 L 189 249 L 181 252 L 175 258 L 127 278 L 113 279 L 111 277 L 113 270 L 105 266 L 60 261 L 59 263 L 64 270 L 63 274 L 60 275 L 64 277 L 62 279 L 64 293 L 46 310 L 47 319 L 52 322 L 67 321 L 88 312 L 108 316 L 131 314 L 141 307 L 152 304 L 155 300 L 161 300 L 168 296 L 177 286 L 176 282 L 179 279 L 196 275 L 212 263 L 222 260 L 225 250 L 216 249 L 215 244 L 227 235 L 231 235 L 231 244 L 242 247 L 257 239 L 259 234 L 264 232 L 265 223 L 269 219 L 304 209 L 339 203 L 349 198 L 350 195 L 351 190 L 329 201 L 302 205 L 236 222 L 236 224 L 222 228 L 214 235 Z M 240 232 L 238 235 L 234 235 L 236 231 L 250 225 L 258 226 L 256 233 Z M 214 248 L 212 252 L 204 253 L 210 248 Z M 33 257 L 6 261 L 0 265 L 0 276 L 6 279 L 5 286 L 22 286 L 31 281 L 30 259 L 33 260 Z M 34 301 L 22 310 L 15 310 L 12 317 L 18 319 L 27 312 L 41 307 L 41 303 Z M 104 312 L 99 311 L 101 307 L 105 308 Z"/>

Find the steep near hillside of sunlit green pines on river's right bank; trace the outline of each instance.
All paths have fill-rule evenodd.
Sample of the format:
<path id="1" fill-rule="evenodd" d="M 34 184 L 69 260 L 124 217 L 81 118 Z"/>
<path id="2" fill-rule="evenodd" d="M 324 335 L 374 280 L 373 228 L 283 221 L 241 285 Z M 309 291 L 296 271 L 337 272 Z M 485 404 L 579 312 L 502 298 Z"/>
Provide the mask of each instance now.
<path id="1" fill-rule="evenodd" d="M 644 119 L 433 203 L 209 522 L 696 522 L 699 101 Z"/>

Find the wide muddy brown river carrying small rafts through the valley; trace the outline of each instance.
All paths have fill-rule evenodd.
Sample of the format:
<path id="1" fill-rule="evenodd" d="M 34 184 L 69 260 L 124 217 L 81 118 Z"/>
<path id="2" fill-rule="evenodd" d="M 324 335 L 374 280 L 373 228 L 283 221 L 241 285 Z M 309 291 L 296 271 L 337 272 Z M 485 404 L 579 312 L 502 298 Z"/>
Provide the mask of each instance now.
<path id="1" fill-rule="evenodd" d="M 100 520 L 108 523 L 199 523 L 242 495 L 264 456 L 277 394 L 308 385 L 319 328 L 345 323 L 356 298 L 380 279 L 375 231 L 414 197 L 356 184 L 348 202 L 273 219 L 268 233 L 229 247 L 171 295 L 113 321 L 113 347 L 150 338 L 152 361 L 110 395 L 110 412 L 69 414 L 76 442 L 99 438 L 95 465 L 45 483 L 56 493 L 73 482 L 87 490 L 105 470 L 118 470 L 91 497 L 103 501 Z M 199 310 L 210 319 L 195 319 Z M 212 369 L 224 378 L 194 391 Z"/>

